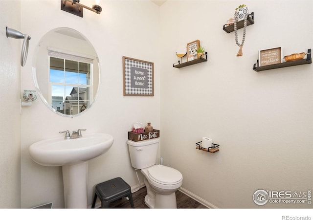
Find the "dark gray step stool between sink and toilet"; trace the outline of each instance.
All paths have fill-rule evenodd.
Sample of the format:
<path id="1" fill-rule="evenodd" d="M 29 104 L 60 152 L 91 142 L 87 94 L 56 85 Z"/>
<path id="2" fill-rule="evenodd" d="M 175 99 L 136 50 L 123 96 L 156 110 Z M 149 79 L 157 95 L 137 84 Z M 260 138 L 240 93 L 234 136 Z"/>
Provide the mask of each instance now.
<path id="1" fill-rule="evenodd" d="M 101 201 L 101 208 L 109 208 L 110 202 L 123 197 L 128 197 L 132 208 L 134 208 L 131 187 L 121 177 L 116 177 L 96 185 L 91 208 L 94 208 L 97 197 Z"/>

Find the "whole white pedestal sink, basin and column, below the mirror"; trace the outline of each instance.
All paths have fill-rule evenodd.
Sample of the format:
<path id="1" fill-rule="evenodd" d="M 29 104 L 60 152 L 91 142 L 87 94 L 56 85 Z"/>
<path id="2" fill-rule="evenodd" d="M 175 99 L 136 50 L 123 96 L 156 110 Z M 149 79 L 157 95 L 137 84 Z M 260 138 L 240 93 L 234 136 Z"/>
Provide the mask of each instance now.
<path id="1" fill-rule="evenodd" d="M 112 144 L 110 134 L 87 133 L 75 139 L 60 136 L 36 142 L 29 153 L 40 165 L 62 166 L 66 208 L 87 208 L 88 160 L 106 153 Z"/>

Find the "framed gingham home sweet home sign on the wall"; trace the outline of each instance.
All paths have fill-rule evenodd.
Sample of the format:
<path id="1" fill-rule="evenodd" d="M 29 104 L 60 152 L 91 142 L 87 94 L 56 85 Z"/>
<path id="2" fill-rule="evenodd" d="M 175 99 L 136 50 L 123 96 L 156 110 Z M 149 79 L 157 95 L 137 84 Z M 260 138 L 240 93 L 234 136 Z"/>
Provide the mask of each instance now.
<path id="1" fill-rule="evenodd" d="M 153 63 L 123 57 L 123 94 L 154 96 Z"/>

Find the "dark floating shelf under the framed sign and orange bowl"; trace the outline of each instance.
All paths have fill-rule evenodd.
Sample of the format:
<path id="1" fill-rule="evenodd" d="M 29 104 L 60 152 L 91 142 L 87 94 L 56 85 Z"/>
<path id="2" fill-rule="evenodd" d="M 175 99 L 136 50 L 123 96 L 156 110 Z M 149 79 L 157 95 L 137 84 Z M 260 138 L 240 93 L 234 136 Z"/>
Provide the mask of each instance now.
<path id="1" fill-rule="evenodd" d="M 258 72 L 258 71 L 263 71 L 263 70 L 268 70 L 268 69 L 277 69 L 277 68 L 283 68 L 283 67 L 288 67 L 288 66 L 298 66 L 298 65 L 303 65 L 303 64 L 312 64 L 311 49 L 308 49 L 307 59 L 289 61 L 289 62 L 284 62 L 280 64 L 272 64 L 272 65 L 267 65 L 267 66 L 259 66 L 259 60 L 257 60 L 257 62 L 253 65 L 253 70 Z"/>

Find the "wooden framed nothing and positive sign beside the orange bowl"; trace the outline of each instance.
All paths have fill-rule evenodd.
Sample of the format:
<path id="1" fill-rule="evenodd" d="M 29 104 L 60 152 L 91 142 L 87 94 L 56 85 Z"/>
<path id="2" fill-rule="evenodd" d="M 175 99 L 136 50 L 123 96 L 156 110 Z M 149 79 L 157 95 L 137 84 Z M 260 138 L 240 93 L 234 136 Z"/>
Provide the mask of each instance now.
<path id="1" fill-rule="evenodd" d="M 280 64 L 283 60 L 282 54 L 281 47 L 259 50 L 259 66 Z"/>

